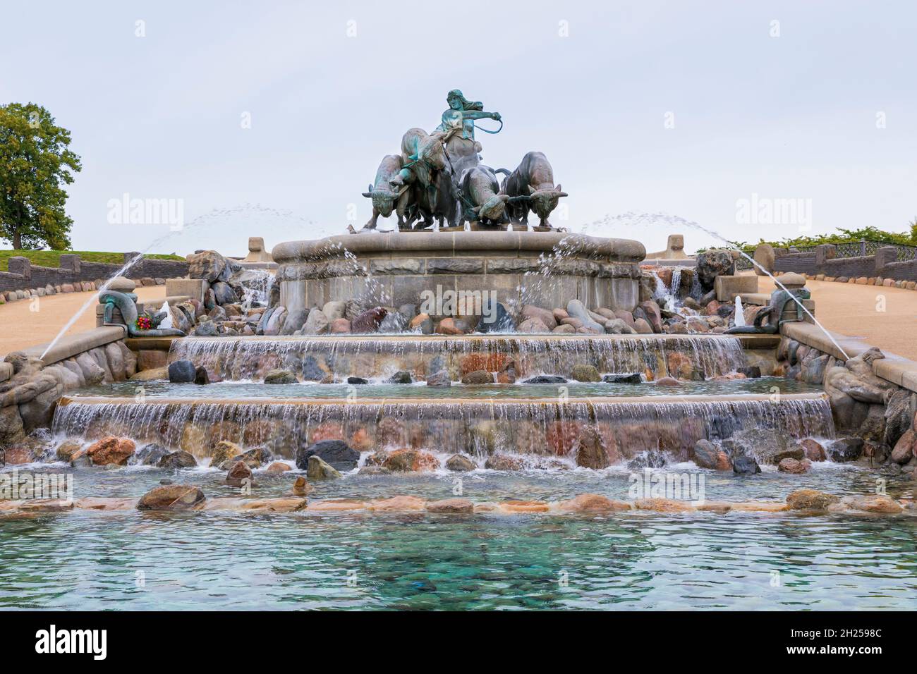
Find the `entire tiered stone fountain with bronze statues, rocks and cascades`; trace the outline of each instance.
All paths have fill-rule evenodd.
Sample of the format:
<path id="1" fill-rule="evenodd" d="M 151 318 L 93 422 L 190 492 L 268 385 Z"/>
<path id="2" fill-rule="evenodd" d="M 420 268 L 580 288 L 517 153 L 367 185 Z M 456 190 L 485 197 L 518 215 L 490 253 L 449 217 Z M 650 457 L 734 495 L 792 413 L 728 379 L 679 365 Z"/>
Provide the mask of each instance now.
<path id="1" fill-rule="evenodd" d="M 136 295 L 104 289 L 103 301 L 114 299 L 100 329 L 117 332 L 116 341 L 104 332 L 106 342 L 61 354 L 55 340 L 13 358 L 18 379 L 0 393 L 17 405 L 19 430 L 26 429 L 19 436 L 32 434 L 32 453 L 10 447 L 7 462 L 76 471 L 80 492 L 69 506 L 0 501 L 0 516 L 76 510 L 91 539 L 106 536 L 93 523 L 107 512 L 139 522 L 131 531 L 154 556 L 182 546 L 171 546 L 150 510 L 205 511 L 201 519 L 184 513 L 165 522 L 182 542 L 204 536 L 218 550 L 234 549 L 220 533 L 229 522 L 252 550 L 264 549 L 264 540 L 281 549 L 290 539 L 283 518 L 309 517 L 301 528 L 310 553 L 334 541 L 335 554 L 348 557 L 347 546 L 359 540 L 370 567 L 379 564 L 390 578 L 417 573 L 395 569 L 393 559 L 439 563 L 440 542 L 474 558 L 462 558 L 461 569 L 492 573 L 499 562 L 484 548 L 504 541 L 515 547 L 509 557 L 518 568 L 531 567 L 533 548 L 550 556 L 569 547 L 600 569 L 609 553 L 599 541 L 622 531 L 646 536 L 652 526 L 671 526 L 672 517 L 721 549 L 728 530 L 783 541 L 770 517 L 745 518 L 749 512 L 911 513 L 900 498 L 902 475 L 889 475 L 891 496 L 863 495 L 874 488 L 864 462 L 876 456 L 867 443 L 878 444 L 874 429 L 885 408 L 870 403 L 862 414 L 873 435 L 838 437 L 839 396 L 812 374 L 837 370 L 841 357 L 856 359 L 840 345 L 829 362 L 828 354 L 813 359 L 812 348 L 789 344 L 788 330 L 812 327 L 801 285 L 781 285 L 783 294 L 756 309 L 769 316 L 768 329 L 759 329 L 761 320 L 746 325 L 737 295 L 704 299 L 710 280 L 702 288 L 682 237 L 670 238 L 653 264 L 641 264 L 646 249 L 638 241 L 557 229 L 550 216 L 567 193 L 545 154 L 526 153 L 514 171 L 483 166 L 475 120 L 501 117 L 460 92 L 448 101 L 441 127 L 411 129 L 401 153 L 381 162 L 365 193 L 372 217 L 362 229 L 283 242 L 270 257 L 256 246 L 248 267 L 199 252 L 189 256 L 190 278 L 182 281 L 197 295 L 163 307 L 168 332 L 118 332 L 118 316 L 136 315 L 124 304 Z M 530 212 L 536 225 L 527 221 Z M 387 216 L 397 218 L 397 231 L 377 228 Z M 119 303 L 124 311 L 116 312 Z M 48 354 L 55 360 L 41 370 L 37 359 Z M 864 360 L 878 358 L 867 352 Z M 803 365 L 806 376 L 782 376 Z M 857 394 L 883 404 L 900 396 L 870 385 Z M 709 484 L 691 498 L 628 491 L 654 479 L 691 492 Z M 513 525 L 500 519 L 517 515 Z M 555 519 L 538 529 L 536 515 Z M 831 549 L 856 540 L 843 527 L 820 535 Z M 476 536 L 488 542 L 468 553 Z M 429 547 L 405 551 L 416 545 Z M 31 554 L 15 539 L 0 539 L 5 549 Z M 693 554 L 678 551 L 678 564 Z M 210 556 L 208 573 L 226 576 L 249 563 L 220 557 Z M 193 558 L 182 561 L 182 570 L 197 573 Z M 170 559 L 160 562 L 158 570 Z M 545 568 L 581 563 L 551 559 Z M 271 569 L 295 564 L 267 561 Z M 338 560 L 328 564 L 337 573 Z M 735 564 L 729 570 L 745 572 Z M 481 573 L 472 576 L 478 582 Z M 404 605 L 412 591 L 396 588 L 380 605 Z M 514 593 L 507 605 L 531 594 Z M 888 594 L 884 585 L 875 588 L 875 596 Z"/>

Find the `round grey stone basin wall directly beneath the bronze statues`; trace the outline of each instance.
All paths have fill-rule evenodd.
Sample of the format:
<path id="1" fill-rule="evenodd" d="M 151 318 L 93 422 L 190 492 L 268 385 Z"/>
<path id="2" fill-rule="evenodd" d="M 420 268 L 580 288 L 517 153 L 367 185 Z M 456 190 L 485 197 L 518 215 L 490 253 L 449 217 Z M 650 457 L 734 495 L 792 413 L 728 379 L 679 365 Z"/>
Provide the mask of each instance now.
<path id="1" fill-rule="evenodd" d="M 631 311 L 639 300 L 643 244 L 556 232 L 366 233 L 288 241 L 274 247 L 281 304 L 288 311 L 373 297 L 417 304 L 437 286 L 493 291 L 510 307 Z"/>

